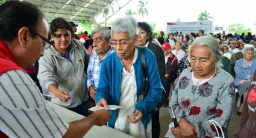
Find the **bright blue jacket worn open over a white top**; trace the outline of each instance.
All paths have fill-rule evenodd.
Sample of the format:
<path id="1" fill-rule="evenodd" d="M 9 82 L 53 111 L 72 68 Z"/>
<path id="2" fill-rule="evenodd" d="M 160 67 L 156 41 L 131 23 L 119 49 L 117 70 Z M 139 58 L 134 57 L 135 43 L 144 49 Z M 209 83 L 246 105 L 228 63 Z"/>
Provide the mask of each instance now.
<path id="1" fill-rule="evenodd" d="M 138 49 L 138 58 L 133 64 L 136 85 L 137 85 L 137 98 L 140 95 L 142 89 L 144 89 L 142 64 L 140 61 L 141 48 Z M 161 80 L 158 73 L 157 61 L 154 53 L 145 49 L 146 69 L 148 73 L 149 89 L 148 94 L 141 103 L 137 103 L 135 109 L 139 110 L 143 114 L 142 122 L 146 128 L 151 119 L 150 112 L 157 106 L 157 103 L 161 99 Z M 101 66 L 101 74 L 99 79 L 99 85 L 96 92 L 96 103 L 105 98 L 109 105 L 119 105 L 119 97 L 122 82 L 122 69 L 123 65 L 120 58 L 113 52 L 103 62 Z M 118 110 L 110 110 L 111 118 L 108 121 L 108 125 L 114 128 L 116 122 Z"/>

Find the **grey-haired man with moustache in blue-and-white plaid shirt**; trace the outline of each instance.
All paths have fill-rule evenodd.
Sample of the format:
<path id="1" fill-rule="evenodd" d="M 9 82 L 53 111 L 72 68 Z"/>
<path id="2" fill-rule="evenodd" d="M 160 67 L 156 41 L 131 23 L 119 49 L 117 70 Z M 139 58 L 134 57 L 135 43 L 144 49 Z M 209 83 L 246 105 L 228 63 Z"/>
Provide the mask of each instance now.
<path id="1" fill-rule="evenodd" d="M 87 68 L 87 88 L 93 100 L 95 100 L 96 89 L 99 83 L 101 64 L 108 55 L 114 52 L 114 49 L 110 46 L 110 37 L 110 29 L 104 26 L 96 28 L 92 32 L 92 45 L 95 52 L 90 56 Z"/>

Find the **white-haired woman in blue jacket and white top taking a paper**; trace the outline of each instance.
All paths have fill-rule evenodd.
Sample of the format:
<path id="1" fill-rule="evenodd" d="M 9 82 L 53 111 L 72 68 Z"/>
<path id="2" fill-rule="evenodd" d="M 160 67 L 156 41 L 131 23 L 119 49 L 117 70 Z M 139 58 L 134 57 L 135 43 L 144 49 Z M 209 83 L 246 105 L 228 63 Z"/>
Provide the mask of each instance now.
<path id="1" fill-rule="evenodd" d="M 111 27 L 111 44 L 115 52 L 102 62 L 96 105 L 110 104 L 123 108 L 110 110 L 108 125 L 134 137 L 150 137 L 151 111 L 161 98 L 161 80 L 154 53 L 144 49 L 148 91 L 145 89 L 141 62 L 142 48 L 137 47 L 137 22 L 131 16 L 116 19 Z"/>

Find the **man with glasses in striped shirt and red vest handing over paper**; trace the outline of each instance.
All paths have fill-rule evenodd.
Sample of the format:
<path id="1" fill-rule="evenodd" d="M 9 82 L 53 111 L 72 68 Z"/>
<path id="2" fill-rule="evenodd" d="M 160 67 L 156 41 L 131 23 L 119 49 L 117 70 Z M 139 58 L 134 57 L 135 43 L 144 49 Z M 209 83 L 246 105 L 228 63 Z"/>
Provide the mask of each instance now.
<path id="1" fill-rule="evenodd" d="M 42 11 L 28 2 L 5 2 L 0 30 L 0 137 L 83 137 L 107 122 L 110 114 L 99 110 L 67 124 L 26 73 L 50 43 Z"/>

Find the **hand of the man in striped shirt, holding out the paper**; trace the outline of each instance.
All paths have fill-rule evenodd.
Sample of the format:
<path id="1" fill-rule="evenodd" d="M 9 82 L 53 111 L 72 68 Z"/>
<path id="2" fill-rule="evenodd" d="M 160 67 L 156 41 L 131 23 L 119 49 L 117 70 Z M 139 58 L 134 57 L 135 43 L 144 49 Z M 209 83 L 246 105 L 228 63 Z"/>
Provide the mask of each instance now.
<path id="1" fill-rule="evenodd" d="M 108 119 L 111 117 L 107 110 L 96 110 L 92 115 L 96 117 L 95 125 L 98 126 L 107 124 Z"/>

